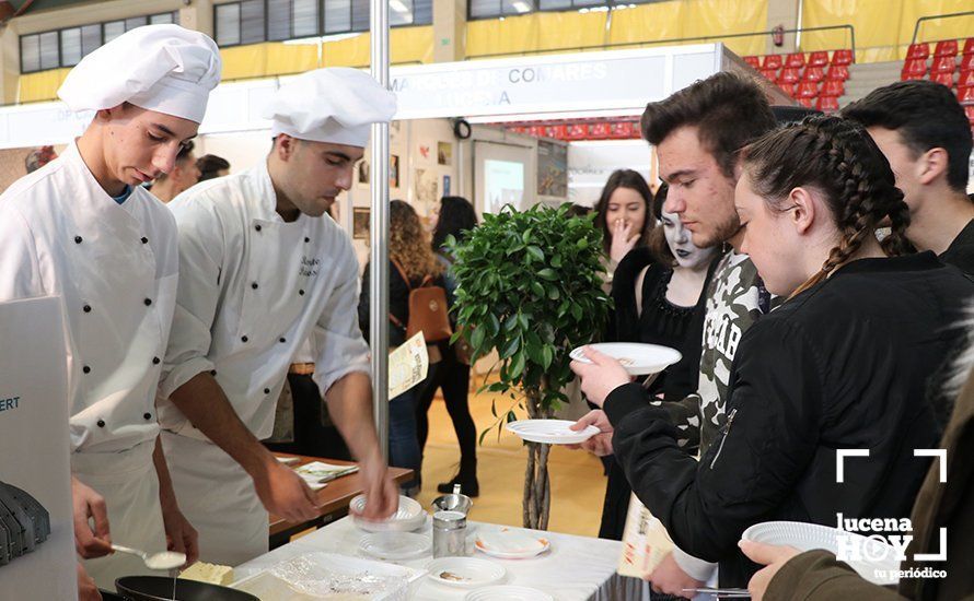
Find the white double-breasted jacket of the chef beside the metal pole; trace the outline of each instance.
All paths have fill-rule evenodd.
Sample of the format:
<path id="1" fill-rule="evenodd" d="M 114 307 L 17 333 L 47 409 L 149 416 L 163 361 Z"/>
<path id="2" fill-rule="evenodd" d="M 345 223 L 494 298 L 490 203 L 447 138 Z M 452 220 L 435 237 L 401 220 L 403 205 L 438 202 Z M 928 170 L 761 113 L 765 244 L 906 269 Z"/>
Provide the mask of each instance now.
<path id="1" fill-rule="evenodd" d="M 169 203 L 179 228 L 179 291 L 160 396 L 216 372 L 234 411 L 258 438 L 274 429 L 292 357 L 313 337 L 322 392 L 369 373 L 358 327 L 358 262 L 331 217 L 286 223 L 267 166 L 195 186 Z M 206 439 L 170 401 L 162 427 Z"/>

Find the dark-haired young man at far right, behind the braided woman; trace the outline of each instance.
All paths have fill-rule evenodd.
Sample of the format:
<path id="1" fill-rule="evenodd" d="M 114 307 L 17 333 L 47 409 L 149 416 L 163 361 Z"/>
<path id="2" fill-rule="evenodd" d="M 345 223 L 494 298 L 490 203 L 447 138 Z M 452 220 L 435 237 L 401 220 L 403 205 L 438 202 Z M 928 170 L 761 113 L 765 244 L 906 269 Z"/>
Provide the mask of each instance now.
<path id="1" fill-rule="evenodd" d="M 974 273 L 974 202 L 966 193 L 971 129 L 953 92 L 931 81 L 902 81 L 842 114 L 866 126 L 890 161 L 909 207 L 909 241 Z"/>

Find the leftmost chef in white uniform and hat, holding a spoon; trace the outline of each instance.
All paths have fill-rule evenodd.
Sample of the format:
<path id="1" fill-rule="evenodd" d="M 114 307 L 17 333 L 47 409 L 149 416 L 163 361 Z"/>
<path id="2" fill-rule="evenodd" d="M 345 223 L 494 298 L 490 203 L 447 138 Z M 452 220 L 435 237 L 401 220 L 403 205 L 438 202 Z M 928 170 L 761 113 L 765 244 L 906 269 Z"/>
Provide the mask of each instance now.
<path id="1" fill-rule="evenodd" d="M 196 533 L 156 448 L 156 386 L 178 278 L 176 223 L 140 184 L 172 169 L 219 76 L 217 46 L 198 32 L 152 25 L 109 42 L 58 92 L 72 110 L 96 111 L 84 133 L 0 196 L 0 300 L 63 299 L 82 557 L 106 555 L 109 541 L 164 551 L 166 535 L 196 555 Z M 120 554 L 88 559 L 84 568 L 111 590 L 117 576 L 146 573 L 141 561 Z"/>

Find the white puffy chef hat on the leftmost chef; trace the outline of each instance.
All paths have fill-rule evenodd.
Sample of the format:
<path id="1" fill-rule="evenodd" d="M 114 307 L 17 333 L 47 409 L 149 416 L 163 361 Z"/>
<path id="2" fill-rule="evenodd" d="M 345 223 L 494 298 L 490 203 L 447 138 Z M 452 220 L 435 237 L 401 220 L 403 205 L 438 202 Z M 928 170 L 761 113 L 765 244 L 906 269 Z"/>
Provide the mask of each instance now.
<path id="1" fill-rule="evenodd" d="M 76 111 L 128 102 L 198 123 L 221 68 L 220 50 L 208 36 L 178 25 L 146 25 L 81 59 L 58 96 Z"/>

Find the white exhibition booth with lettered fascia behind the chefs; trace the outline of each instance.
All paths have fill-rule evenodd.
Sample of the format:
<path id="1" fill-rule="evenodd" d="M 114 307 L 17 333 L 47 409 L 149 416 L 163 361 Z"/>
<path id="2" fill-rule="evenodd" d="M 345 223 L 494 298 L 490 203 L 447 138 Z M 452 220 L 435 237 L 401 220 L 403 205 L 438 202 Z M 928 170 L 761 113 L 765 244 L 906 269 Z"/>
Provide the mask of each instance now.
<path id="1" fill-rule="evenodd" d="M 638 116 L 646 103 L 726 70 L 750 67 L 721 44 L 392 68 L 398 111 L 390 128 L 390 198 L 413 203 L 421 215 L 445 195 L 469 198 L 480 212 L 507 202 L 523 207 L 571 200 L 591 205 L 612 170 L 636 168 L 649 175 L 651 154 L 643 142 L 540 141 L 485 123 Z M 223 156 L 234 170 L 263 158 L 270 125 L 260 111 L 287 79 L 217 87 L 200 127 L 197 156 Z M 790 104 L 776 87 L 769 93 Z M 468 139 L 456 138 L 454 118 L 472 123 Z M 59 102 L 0 107 L 0 149 L 63 144 L 79 135 L 89 119 Z M 540 158 L 543 174 L 564 177 L 561 185 L 538 188 Z M 353 234 L 362 260 L 372 170 L 367 158 L 338 215 Z"/>

